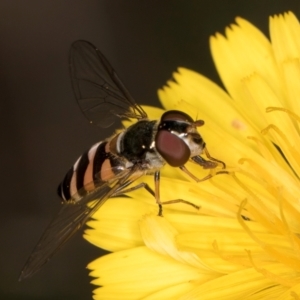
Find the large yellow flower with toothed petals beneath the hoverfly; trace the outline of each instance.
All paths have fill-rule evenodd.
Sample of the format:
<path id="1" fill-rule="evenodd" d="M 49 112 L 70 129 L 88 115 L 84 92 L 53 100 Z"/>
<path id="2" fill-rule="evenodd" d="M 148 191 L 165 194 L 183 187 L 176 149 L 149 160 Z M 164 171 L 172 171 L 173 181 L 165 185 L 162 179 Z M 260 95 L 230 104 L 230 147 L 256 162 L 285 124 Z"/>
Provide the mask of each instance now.
<path id="1" fill-rule="evenodd" d="M 205 120 L 212 156 L 228 174 L 201 183 L 165 167 L 157 206 L 143 190 L 113 198 L 85 238 L 112 251 L 88 265 L 94 299 L 300 299 L 300 24 L 270 18 L 269 41 L 237 18 L 210 39 L 227 92 L 179 68 L 159 91 L 165 109 Z M 162 110 L 146 108 L 158 119 Z M 192 163 L 198 178 L 207 171 Z M 144 182 L 152 185 L 152 176 Z"/>

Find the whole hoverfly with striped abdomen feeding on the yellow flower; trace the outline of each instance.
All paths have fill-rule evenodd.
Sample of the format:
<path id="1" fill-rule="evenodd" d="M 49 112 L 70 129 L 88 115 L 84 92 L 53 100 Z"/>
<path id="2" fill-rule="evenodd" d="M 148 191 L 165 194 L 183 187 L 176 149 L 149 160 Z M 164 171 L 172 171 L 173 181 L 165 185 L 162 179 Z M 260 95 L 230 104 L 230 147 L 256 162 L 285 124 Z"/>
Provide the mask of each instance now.
<path id="1" fill-rule="evenodd" d="M 70 71 L 77 102 L 91 123 L 108 127 L 120 117 L 134 118 L 137 122 L 92 146 L 66 174 L 58 188 L 63 199 L 60 211 L 27 260 L 20 280 L 39 271 L 111 197 L 144 187 L 156 199 L 159 215 L 162 215 L 162 204 L 193 205 L 181 199 L 161 202 L 159 180 L 164 164 L 180 168 L 196 181 L 212 175 L 199 180 L 185 167 L 188 160 L 205 169 L 219 164 L 225 168 L 222 161 L 209 155 L 197 131 L 204 121 L 194 121 L 177 110 L 165 112 L 158 121 L 149 120 L 104 55 L 91 43 L 76 41 L 72 44 Z M 144 183 L 129 187 L 144 174 L 154 174 L 154 190 Z"/>

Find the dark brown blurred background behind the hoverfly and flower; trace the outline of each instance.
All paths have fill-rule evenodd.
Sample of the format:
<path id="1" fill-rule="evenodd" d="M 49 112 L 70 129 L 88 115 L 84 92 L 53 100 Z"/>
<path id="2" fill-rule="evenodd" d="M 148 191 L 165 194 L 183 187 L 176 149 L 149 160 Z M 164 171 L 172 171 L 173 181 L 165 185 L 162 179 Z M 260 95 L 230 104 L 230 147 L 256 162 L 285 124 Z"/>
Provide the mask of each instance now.
<path id="1" fill-rule="evenodd" d="M 85 266 L 102 252 L 78 234 L 33 278 L 19 272 L 59 209 L 58 183 L 75 159 L 114 128 L 88 124 L 68 71 L 71 43 L 107 56 L 141 104 L 178 66 L 220 83 L 209 36 L 241 16 L 268 34 L 268 17 L 299 0 L 102 0 L 0 2 L 0 299 L 91 299 Z"/>

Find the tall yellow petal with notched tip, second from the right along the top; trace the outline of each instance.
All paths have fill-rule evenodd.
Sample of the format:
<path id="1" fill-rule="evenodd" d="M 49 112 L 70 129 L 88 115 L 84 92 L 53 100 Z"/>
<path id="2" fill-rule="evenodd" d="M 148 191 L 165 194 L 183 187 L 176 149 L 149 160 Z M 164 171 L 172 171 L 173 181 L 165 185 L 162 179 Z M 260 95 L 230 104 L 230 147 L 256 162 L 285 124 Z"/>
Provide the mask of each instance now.
<path id="1" fill-rule="evenodd" d="M 282 104 L 285 93 L 270 42 L 246 20 L 237 18 L 236 22 L 238 25 L 227 28 L 227 38 L 220 34 L 211 38 L 211 51 L 226 89 L 236 101 L 239 111 L 251 123 L 257 121 L 257 115 L 263 112 L 256 102 L 251 101 L 243 79 L 257 74 L 270 85 Z"/>

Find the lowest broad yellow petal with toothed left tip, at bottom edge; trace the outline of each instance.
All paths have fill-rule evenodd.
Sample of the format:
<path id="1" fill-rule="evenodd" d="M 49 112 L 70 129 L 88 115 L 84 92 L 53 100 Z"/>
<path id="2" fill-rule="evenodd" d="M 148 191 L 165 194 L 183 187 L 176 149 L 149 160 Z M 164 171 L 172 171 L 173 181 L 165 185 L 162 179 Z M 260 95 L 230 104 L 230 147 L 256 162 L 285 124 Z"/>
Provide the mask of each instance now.
<path id="1" fill-rule="evenodd" d="M 103 285 L 94 291 L 94 299 L 141 299 L 178 284 L 205 282 L 215 277 L 146 247 L 103 256 L 91 262 L 88 268 L 93 270 L 90 275 L 96 277 L 92 283 Z"/>

